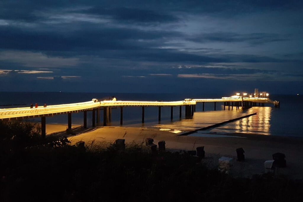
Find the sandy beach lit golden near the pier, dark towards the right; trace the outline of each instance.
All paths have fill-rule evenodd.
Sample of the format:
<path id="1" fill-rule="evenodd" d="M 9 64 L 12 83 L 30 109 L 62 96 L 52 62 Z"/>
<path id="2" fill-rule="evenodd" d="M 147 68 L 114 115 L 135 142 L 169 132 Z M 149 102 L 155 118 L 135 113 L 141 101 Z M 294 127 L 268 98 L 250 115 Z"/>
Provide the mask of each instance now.
<path id="1" fill-rule="evenodd" d="M 73 125 L 77 127 L 78 125 Z M 64 131 L 64 124 L 47 124 L 46 132 Z M 280 152 L 286 156 L 287 167 L 279 168 L 275 173 L 285 174 L 290 178 L 303 178 L 303 151 L 301 150 L 302 138 L 265 136 L 253 134 L 228 134 L 229 136 L 194 137 L 177 136 L 168 131 L 159 131 L 147 127 L 97 127 L 92 131 L 78 134 L 68 139 L 71 144 L 78 141 L 85 141 L 90 144 L 95 141 L 111 142 L 116 139 L 125 139 L 126 144 L 145 144 L 145 139 L 151 137 L 154 143 L 166 142 L 168 151 L 195 150 L 196 147 L 205 147 L 205 159 L 209 167 L 218 166 L 218 158 L 234 158 L 231 174 L 238 177 L 251 177 L 253 174 L 268 172 L 264 168 L 266 160 L 272 160 L 272 154 Z M 242 147 L 245 150 L 245 162 L 236 161 L 236 148 Z"/>

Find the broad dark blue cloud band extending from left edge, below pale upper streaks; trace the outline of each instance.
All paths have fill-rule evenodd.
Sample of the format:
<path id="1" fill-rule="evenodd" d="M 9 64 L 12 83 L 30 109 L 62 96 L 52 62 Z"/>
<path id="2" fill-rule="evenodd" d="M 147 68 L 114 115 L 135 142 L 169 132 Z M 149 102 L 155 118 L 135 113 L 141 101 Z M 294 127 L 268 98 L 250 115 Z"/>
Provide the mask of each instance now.
<path id="1" fill-rule="evenodd" d="M 181 33 L 175 31 L 142 31 L 131 28 L 99 28 L 94 26 L 90 27 L 89 30 L 83 29 L 67 33 L 0 27 L 1 48 L 19 50 L 138 49 L 140 46 L 157 45 L 155 42 L 149 43 L 148 40 L 161 40 L 164 37 L 174 38 L 178 36 L 181 36 Z M 138 41 L 139 39 L 142 42 Z"/>

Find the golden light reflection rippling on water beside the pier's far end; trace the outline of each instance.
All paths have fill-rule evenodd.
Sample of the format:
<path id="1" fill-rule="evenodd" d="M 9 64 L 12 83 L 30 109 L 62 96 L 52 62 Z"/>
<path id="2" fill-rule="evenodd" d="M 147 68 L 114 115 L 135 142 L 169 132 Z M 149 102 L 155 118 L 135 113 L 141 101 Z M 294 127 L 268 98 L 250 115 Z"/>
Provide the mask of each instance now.
<path id="1" fill-rule="evenodd" d="M 154 127 L 160 128 L 160 130 L 171 130 L 171 132 L 175 133 L 184 133 L 186 131 L 207 127 L 255 112 L 257 113 L 256 115 L 225 124 L 221 127 L 209 129 L 204 133 L 224 134 L 237 132 L 270 135 L 272 113 L 271 107 L 252 107 L 243 111 L 241 109 L 225 111 L 199 111 L 195 112 L 192 118 L 167 124 L 156 124 Z"/>

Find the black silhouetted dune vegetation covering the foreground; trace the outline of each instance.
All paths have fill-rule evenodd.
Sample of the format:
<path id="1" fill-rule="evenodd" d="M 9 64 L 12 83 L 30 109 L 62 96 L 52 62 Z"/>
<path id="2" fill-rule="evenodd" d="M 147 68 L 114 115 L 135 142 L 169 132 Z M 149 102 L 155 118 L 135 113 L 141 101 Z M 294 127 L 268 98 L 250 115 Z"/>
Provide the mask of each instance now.
<path id="1" fill-rule="evenodd" d="M 233 178 L 187 152 L 71 146 L 30 123 L 0 123 L 0 201 L 301 201 L 301 181 Z M 4 146 L 7 144 L 7 146 Z M 2 147 L 4 146 L 4 147 Z M 12 147 L 12 148 L 10 148 Z M 20 147 L 20 148 L 17 148 Z"/>

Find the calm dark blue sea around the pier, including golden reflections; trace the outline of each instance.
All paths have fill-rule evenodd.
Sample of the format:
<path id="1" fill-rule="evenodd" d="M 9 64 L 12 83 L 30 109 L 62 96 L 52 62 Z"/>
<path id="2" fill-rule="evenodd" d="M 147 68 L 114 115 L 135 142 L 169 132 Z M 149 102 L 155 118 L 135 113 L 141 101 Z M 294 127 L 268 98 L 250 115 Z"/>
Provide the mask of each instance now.
<path id="1" fill-rule="evenodd" d="M 98 100 L 108 99 L 115 96 L 117 100 L 138 100 L 138 101 L 178 101 L 185 98 L 221 98 L 230 94 L 142 94 L 142 93 L 65 93 L 65 92 L 0 92 L 0 105 L 5 104 L 29 104 L 32 102 L 43 105 L 74 103 L 89 101 L 92 98 Z M 123 109 L 123 125 L 133 127 L 154 127 L 158 130 L 167 130 L 175 133 L 183 133 L 212 124 L 241 117 L 246 114 L 257 112 L 257 115 L 250 116 L 221 127 L 214 128 L 203 133 L 226 134 L 241 132 L 249 134 L 279 135 L 303 137 L 303 106 L 301 95 L 271 95 L 272 100 L 280 101 L 280 108 L 274 108 L 268 104 L 265 107 L 252 107 L 247 110 L 241 108 L 236 110 L 223 110 L 223 103 L 217 103 L 214 111 L 214 103 L 205 103 L 205 111 L 202 111 L 202 103 L 196 106 L 196 112 L 190 119 L 185 119 L 185 108 L 182 108 L 182 118 L 179 118 L 179 107 L 174 108 L 174 118 L 170 120 L 170 107 L 161 108 L 161 122 L 158 122 L 158 108 L 145 108 L 145 123 L 141 123 L 142 108 L 127 107 Z M 17 106 L 14 106 L 17 107 Z M 20 106 L 24 107 L 24 106 Z M 8 108 L 0 106 L 0 108 Z M 101 111 L 102 112 L 102 111 Z M 103 116 L 100 116 L 101 121 Z M 30 121 L 40 121 L 31 119 Z M 92 124 L 92 113 L 88 112 L 88 126 Z M 47 117 L 48 123 L 67 123 L 67 114 Z M 83 113 L 72 114 L 73 124 L 83 124 Z M 120 126 L 120 110 L 112 109 L 112 126 Z"/>

